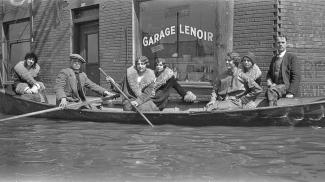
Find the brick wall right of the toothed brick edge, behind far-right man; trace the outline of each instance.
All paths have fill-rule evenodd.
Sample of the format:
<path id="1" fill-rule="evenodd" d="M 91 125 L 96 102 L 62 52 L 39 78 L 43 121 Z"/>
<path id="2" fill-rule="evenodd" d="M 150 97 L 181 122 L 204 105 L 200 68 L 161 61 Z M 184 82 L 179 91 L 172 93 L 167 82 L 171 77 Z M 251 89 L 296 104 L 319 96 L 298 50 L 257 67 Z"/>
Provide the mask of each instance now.
<path id="1" fill-rule="evenodd" d="M 278 0 L 279 33 L 301 63 L 302 96 L 325 95 L 325 1 Z"/>

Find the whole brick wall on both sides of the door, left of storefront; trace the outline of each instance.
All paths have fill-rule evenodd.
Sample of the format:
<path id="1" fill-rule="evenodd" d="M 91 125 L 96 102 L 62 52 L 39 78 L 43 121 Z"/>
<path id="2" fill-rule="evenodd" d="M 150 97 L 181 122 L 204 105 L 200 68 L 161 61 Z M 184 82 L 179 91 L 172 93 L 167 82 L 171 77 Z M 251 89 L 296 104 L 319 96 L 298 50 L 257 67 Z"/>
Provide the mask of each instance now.
<path id="1" fill-rule="evenodd" d="M 6 21 L 29 17 L 27 3 L 19 7 L 6 3 Z M 40 77 L 49 93 L 53 93 L 58 72 L 69 67 L 73 26 L 71 9 L 78 8 L 81 4 L 99 4 L 100 66 L 116 81 L 120 81 L 125 67 L 132 64 L 132 0 L 34 1 L 32 47 L 39 56 Z M 106 85 L 102 75 L 101 85 Z"/>

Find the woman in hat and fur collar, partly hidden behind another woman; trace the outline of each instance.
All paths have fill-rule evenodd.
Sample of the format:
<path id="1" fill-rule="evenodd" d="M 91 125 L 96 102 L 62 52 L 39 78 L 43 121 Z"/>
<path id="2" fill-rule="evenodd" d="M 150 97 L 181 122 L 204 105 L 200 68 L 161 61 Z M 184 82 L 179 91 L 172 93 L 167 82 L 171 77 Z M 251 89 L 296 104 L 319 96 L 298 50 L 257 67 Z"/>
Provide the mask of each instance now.
<path id="1" fill-rule="evenodd" d="M 252 52 L 248 52 L 241 60 L 242 70 L 247 76 L 255 80 L 257 84 L 261 85 L 262 71 L 256 65 L 255 60 L 255 55 Z"/>

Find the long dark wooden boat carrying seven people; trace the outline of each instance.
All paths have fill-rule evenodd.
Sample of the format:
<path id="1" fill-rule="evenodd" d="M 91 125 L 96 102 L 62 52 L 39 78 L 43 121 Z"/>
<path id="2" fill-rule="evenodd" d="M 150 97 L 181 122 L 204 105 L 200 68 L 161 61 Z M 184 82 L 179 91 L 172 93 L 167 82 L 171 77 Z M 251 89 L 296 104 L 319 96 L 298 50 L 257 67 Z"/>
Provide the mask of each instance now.
<path id="1" fill-rule="evenodd" d="M 154 125 L 183 125 L 183 126 L 325 126 L 325 99 L 299 98 L 283 99 L 276 107 L 263 107 L 260 101 L 255 109 L 207 112 L 206 104 L 200 101 L 193 104 L 170 102 L 168 108 L 161 112 L 147 112 L 144 115 Z M 0 92 L 0 112 L 19 115 L 56 107 L 22 99 L 19 96 Z M 51 102 L 50 102 L 51 103 Z M 102 110 L 65 109 L 35 115 L 39 118 L 59 120 L 114 122 L 122 124 L 147 123 L 139 113 L 123 111 L 117 101 L 105 103 Z M 9 122 L 9 121 L 8 121 Z"/>

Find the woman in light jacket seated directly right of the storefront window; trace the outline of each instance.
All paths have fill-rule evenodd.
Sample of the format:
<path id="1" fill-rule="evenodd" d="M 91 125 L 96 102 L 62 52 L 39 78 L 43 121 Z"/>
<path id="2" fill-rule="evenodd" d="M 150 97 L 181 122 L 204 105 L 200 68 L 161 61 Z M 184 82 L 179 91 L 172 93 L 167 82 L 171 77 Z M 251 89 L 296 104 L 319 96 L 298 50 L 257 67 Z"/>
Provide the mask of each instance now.
<path id="1" fill-rule="evenodd" d="M 262 92 L 262 88 L 238 68 L 240 61 L 238 53 L 227 54 L 227 70 L 213 83 L 211 99 L 206 105 L 207 111 L 256 107 L 252 102 Z"/>

